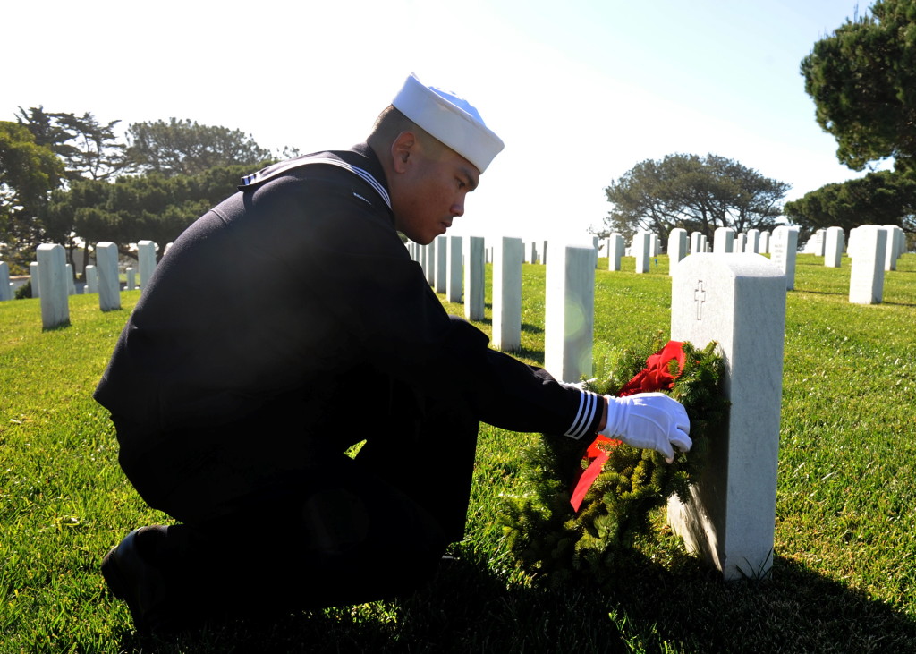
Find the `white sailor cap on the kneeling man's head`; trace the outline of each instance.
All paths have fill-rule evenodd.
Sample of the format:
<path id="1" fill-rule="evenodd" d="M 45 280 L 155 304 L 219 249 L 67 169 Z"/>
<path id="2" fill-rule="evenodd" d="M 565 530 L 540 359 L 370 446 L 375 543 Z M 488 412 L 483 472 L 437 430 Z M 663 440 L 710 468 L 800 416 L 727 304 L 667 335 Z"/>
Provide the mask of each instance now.
<path id="1" fill-rule="evenodd" d="M 412 72 L 391 104 L 481 172 L 503 149 L 502 139 L 484 124 L 470 103 L 454 93 L 426 86 Z"/>

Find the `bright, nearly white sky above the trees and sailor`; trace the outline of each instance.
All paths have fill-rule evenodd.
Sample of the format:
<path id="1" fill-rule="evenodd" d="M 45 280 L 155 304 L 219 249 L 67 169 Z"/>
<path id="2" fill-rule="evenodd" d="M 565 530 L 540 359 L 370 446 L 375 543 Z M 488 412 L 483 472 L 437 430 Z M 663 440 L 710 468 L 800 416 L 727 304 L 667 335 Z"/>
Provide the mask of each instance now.
<path id="1" fill-rule="evenodd" d="M 856 5 L 19 0 L 0 9 L 0 120 L 175 116 L 304 153 L 364 140 L 415 71 L 506 142 L 454 234 L 590 240 L 605 187 L 645 159 L 734 158 L 791 184 L 787 200 L 864 174 L 837 163 L 799 74 Z"/>

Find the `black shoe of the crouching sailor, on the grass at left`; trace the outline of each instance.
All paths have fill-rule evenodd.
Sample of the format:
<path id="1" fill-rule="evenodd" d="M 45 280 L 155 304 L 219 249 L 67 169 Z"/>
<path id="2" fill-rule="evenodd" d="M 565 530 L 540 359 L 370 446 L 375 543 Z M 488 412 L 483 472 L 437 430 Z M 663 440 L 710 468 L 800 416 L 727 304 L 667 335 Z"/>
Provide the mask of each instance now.
<path id="1" fill-rule="evenodd" d="M 158 525 L 135 529 L 102 560 L 105 583 L 115 597 L 127 603 L 137 631 L 173 631 L 180 627 L 169 616 L 166 581 L 154 555 L 154 541 L 164 539 L 166 529 Z"/>

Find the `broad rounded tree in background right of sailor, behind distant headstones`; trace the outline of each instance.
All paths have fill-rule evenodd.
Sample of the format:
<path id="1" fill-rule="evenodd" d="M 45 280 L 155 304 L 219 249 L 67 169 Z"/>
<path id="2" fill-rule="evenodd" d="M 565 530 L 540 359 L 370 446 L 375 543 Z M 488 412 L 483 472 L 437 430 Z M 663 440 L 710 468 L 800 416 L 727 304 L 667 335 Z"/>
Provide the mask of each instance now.
<path id="1" fill-rule="evenodd" d="M 667 237 L 675 227 L 710 238 L 716 227 L 770 229 L 790 188 L 712 154 L 647 159 L 605 189 L 614 205 L 605 225 L 627 240 L 639 230 Z"/>

